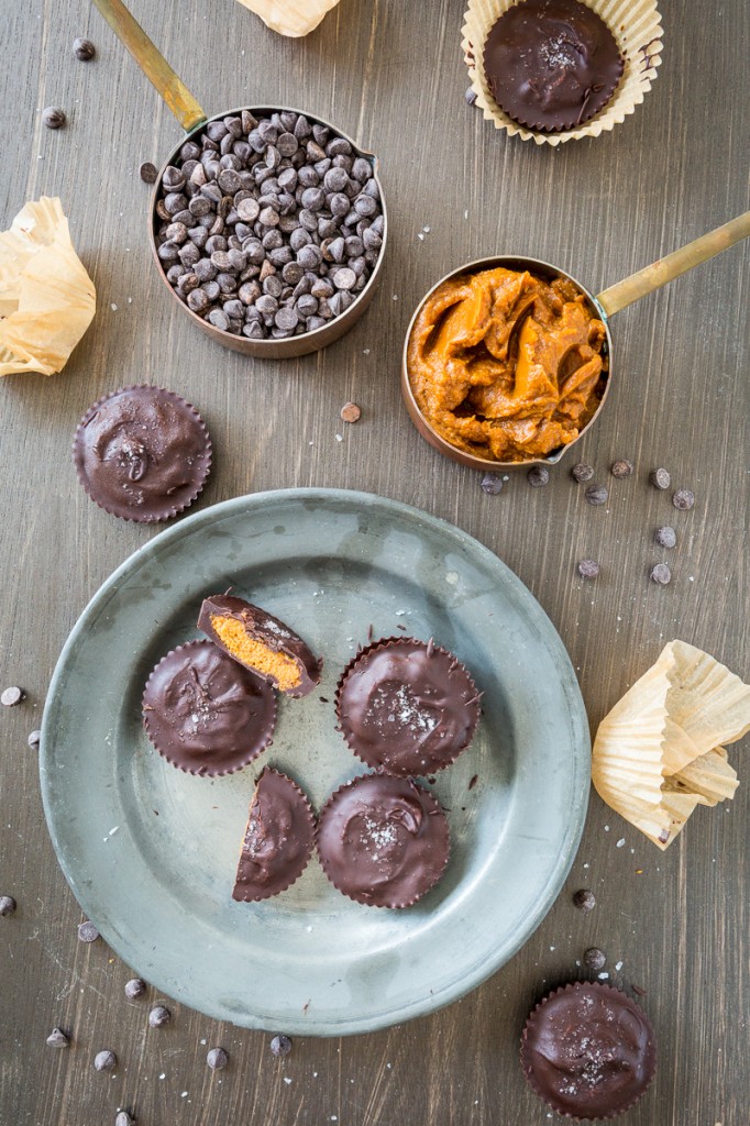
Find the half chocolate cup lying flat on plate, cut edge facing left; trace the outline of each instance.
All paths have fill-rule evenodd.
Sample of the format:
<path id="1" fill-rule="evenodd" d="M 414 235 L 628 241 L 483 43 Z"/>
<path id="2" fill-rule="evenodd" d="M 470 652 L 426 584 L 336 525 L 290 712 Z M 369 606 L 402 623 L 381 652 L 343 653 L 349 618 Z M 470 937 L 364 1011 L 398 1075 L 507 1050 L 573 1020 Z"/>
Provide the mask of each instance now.
<path id="1" fill-rule="evenodd" d="M 250 802 L 232 897 L 249 903 L 286 891 L 305 869 L 314 843 L 310 802 L 291 778 L 266 767 Z"/>

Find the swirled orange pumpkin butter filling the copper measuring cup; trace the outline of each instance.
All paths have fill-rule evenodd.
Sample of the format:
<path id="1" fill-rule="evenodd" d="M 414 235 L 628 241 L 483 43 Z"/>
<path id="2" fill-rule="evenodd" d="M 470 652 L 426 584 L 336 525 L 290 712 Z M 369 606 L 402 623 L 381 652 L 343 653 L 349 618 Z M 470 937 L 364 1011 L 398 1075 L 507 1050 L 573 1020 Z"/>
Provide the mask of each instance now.
<path id="1" fill-rule="evenodd" d="M 488 461 L 546 457 L 573 441 L 604 391 L 606 330 L 568 278 L 482 270 L 444 282 L 407 352 L 426 420 Z"/>

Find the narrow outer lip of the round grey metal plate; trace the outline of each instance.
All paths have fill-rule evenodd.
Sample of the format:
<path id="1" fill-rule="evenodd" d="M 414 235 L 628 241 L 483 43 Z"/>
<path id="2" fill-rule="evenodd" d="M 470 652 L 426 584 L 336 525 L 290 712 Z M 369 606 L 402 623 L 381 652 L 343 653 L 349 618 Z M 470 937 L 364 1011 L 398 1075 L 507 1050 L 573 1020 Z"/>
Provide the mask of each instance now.
<path id="1" fill-rule="evenodd" d="M 141 544 L 104 580 L 79 614 L 63 644 L 50 680 L 42 720 L 42 740 L 39 745 L 39 785 L 42 790 L 42 802 L 47 831 L 57 864 L 60 865 L 60 868 L 62 869 L 62 873 L 65 876 L 77 902 L 86 912 L 87 917 L 93 917 L 96 921 L 96 908 L 93 912 L 89 912 L 88 910 L 88 905 L 91 904 L 92 900 L 96 900 L 96 896 L 89 896 L 84 879 L 77 870 L 74 870 L 74 866 L 70 863 L 71 858 L 66 852 L 66 847 L 64 841 L 61 839 L 55 824 L 52 785 L 47 780 L 47 777 L 51 775 L 51 771 L 48 771 L 47 768 L 51 761 L 50 756 L 52 754 L 47 748 L 53 742 L 50 736 L 50 725 L 53 722 L 54 712 L 57 706 L 57 698 L 60 696 L 59 682 L 63 680 L 65 676 L 69 659 L 72 652 L 77 650 L 80 638 L 86 636 L 89 619 L 97 615 L 100 604 L 110 597 L 113 588 L 117 586 L 123 575 L 130 574 L 134 568 L 140 565 L 142 560 L 149 560 L 151 556 L 157 555 L 157 553 L 163 551 L 164 548 L 169 551 L 175 542 L 179 542 L 186 535 L 190 535 L 196 525 L 211 525 L 214 519 L 221 519 L 232 510 L 236 510 L 243 516 L 251 517 L 253 509 L 262 509 L 269 502 L 278 504 L 284 500 L 298 502 L 340 502 L 350 507 L 364 506 L 365 508 L 367 506 L 375 504 L 381 509 L 385 509 L 390 516 L 398 513 L 410 521 L 417 520 L 422 525 L 429 525 L 434 530 L 441 530 L 444 533 L 447 531 L 454 542 L 458 542 L 463 547 L 467 547 L 474 557 L 476 557 L 476 554 L 479 553 L 482 562 L 486 562 L 492 568 L 499 569 L 500 572 L 503 573 L 506 581 L 509 583 L 521 606 L 525 609 L 530 608 L 533 613 L 541 615 L 539 620 L 544 622 L 545 629 L 547 632 L 545 642 L 547 644 L 553 642 L 556 645 L 557 653 L 555 656 L 557 659 L 557 667 L 560 670 L 560 682 L 563 686 L 569 705 L 571 732 L 574 733 L 577 742 L 580 744 L 580 753 L 574 762 L 572 785 L 572 789 L 579 796 L 579 801 L 577 803 L 575 814 L 570 819 L 566 825 L 566 831 L 561 843 L 556 863 L 554 867 L 551 868 L 547 876 L 545 884 L 546 894 L 539 899 L 535 910 L 532 912 L 529 926 L 524 928 L 512 942 L 501 945 L 501 954 L 499 957 L 490 957 L 481 965 L 475 966 L 474 971 L 468 975 L 463 975 L 459 978 L 454 978 L 448 982 L 439 993 L 430 993 L 430 995 L 402 1006 L 393 1012 L 385 1015 L 376 1013 L 364 1018 L 352 1017 L 346 1021 L 338 1020 L 336 1022 L 331 1022 L 328 1018 L 315 1020 L 312 1017 L 305 1016 L 304 1019 L 301 1020 L 300 1018 L 292 1017 L 285 1022 L 285 1030 L 294 1035 L 327 1037 L 370 1033 L 436 1012 L 465 997 L 506 966 L 510 959 L 526 945 L 526 942 L 528 942 L 557 899 L 575 859 L 586 823 L 590 795 L 589 763 L 591 744 L 588 716 L 580 686 L 573 670 L 572 661 L 563 644 L 562 637 L 541 602 L 518 578 L 518 575 L 500 558 L 500 556 L 486 547 L 485 544 L 482 544 L 481 540 L 476 539 L 475 536 L 472 536 L 457 525 L 454 525 L 441 517 L 434 516 L 430 512 L 426 512 L 414 506 L 407 504 L 403 501 L 392 500 L 391 498 L 382 497 L 377 493 L 369 493 L 360 490 L 331 489 L 322 486 L 291 488 L 247 493 L 241 497 L 218 501 L 217 503 L 202 509 L 198 512 L 184 517 L 176 525 L 163 528 L 157 535 L 152 536 L 146 543 Z M 577 777 L 578 775 L 580 775 L 580 777 Z M 107 941 L 107 945 L 126 965 L 130 965 L 131 962 L 128 951 L 122 948 L 119 941 L 111 941 L 110 938 L 107 937 L 106 931 L 107 928 L 105 927 L 102 930 L 102 937 L 105 938 L 105 941 Z M 238 1027 L 256 1029 L 268 1028 L 267 1024 L 262 1021 L 262 1018 L 257 1022 L 238 1021 L 235 1015 L 233 1016 L 231 1011 L 225 1011 L 220 1006 L 212 1007 L 211 1003 L 204 1003 L 203 999 L 200 1003 L 197 1004 L 195 999 L 190 998 L 189 990 L 182 991 L 179 988 L 176 989 L 177 982 L 173 977 L 169 978 L 169 986 L 167 989 L 162 989 L 163 981 L 160 983 L 153 977 L 151 980 L 151 984 L 161 992 L 172 997 L 179 1003 L 185 1004 L 197 1012 L 212 1017 L 213 1019 L 225 1020 Z"/>

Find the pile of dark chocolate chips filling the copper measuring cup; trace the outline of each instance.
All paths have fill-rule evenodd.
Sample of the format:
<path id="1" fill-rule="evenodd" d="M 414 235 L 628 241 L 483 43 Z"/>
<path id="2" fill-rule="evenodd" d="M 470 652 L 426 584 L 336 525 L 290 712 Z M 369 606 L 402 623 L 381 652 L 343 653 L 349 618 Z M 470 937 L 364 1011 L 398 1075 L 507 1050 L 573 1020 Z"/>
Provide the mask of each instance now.
<path id="1" fill-rule="evenodd" d="M 343 313 L 381 251 L 372 161 L 303 114 L 209 122 L 164 169 L 157 252 L 177 296 L 214 328 L 298 336 Z"/>

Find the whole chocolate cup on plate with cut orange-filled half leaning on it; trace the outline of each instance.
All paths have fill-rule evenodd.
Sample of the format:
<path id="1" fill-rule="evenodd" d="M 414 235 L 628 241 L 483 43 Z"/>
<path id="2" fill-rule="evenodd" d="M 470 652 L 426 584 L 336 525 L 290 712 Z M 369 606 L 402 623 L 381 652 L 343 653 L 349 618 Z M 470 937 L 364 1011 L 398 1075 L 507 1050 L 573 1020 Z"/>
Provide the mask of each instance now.
<path id="1" fill-rule="evenodd" d="M 268 747 L 273 688 L 207 641 L 168 653 L 143 692 L 149 739 L 172 766 L 208 778 L 232 774 Z"/>

